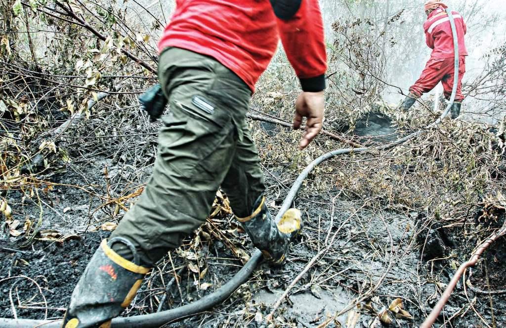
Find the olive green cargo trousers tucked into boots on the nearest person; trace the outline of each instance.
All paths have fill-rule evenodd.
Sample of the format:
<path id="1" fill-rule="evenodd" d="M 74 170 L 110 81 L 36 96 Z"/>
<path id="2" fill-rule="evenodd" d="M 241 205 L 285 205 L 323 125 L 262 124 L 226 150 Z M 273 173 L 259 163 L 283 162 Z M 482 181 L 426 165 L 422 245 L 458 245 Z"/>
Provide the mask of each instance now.
<path id="1" fill-rule="evenodd" d="M 265 190 L 245 120 L 248 86 L 215 59 L 179 48 L 160 55 L 158 78 L 170 113 L 153 174 L 111 235 L 132 241 L 148 267 L 205 221 L 220 186 L 238 217 Z"/>

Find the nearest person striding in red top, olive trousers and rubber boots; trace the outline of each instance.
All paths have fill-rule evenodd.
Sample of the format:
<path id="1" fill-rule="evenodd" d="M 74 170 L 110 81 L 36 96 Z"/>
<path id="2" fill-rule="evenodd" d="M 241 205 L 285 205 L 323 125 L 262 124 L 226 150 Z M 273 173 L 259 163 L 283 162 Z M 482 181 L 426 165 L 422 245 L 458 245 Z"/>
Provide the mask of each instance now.
<path id="1" fill-rule="evenodd" d="M 72 293 L 63 327 L 109 327 L 143 277 L 205 222 L 221 188 L 264 258 L 286 260 L 302 222 L 275 223 L 260 158 L 246 122 L 255 84 L 279 38 L 299 77 L 294 128 L 307 118 L 302 150 L 320 132 L 326 53 L 318 0 L 177 0 L 158 44 L 158 78 L 170 113 L 139 200 L 103 240 Z"/>

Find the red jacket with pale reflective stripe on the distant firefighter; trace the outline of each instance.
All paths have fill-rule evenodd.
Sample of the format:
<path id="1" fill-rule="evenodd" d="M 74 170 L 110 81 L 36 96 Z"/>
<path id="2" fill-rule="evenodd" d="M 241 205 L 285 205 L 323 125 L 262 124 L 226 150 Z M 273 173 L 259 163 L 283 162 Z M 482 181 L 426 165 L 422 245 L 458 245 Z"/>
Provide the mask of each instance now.
<path id="1" fill-rule="evenodd" d="M 462 16 L 456 11 L 451 12 L 455 20 L 458 38 L 458 53 L 460 56 L 467 56 L 466 35 L 467 26 Z M 451 32 L 450 18 L 443 8 L 434 10 L 424 24 L 425 36 L 429 48 L 434 49 L 432 59 L 453 58 L 453 34 Z"/>

